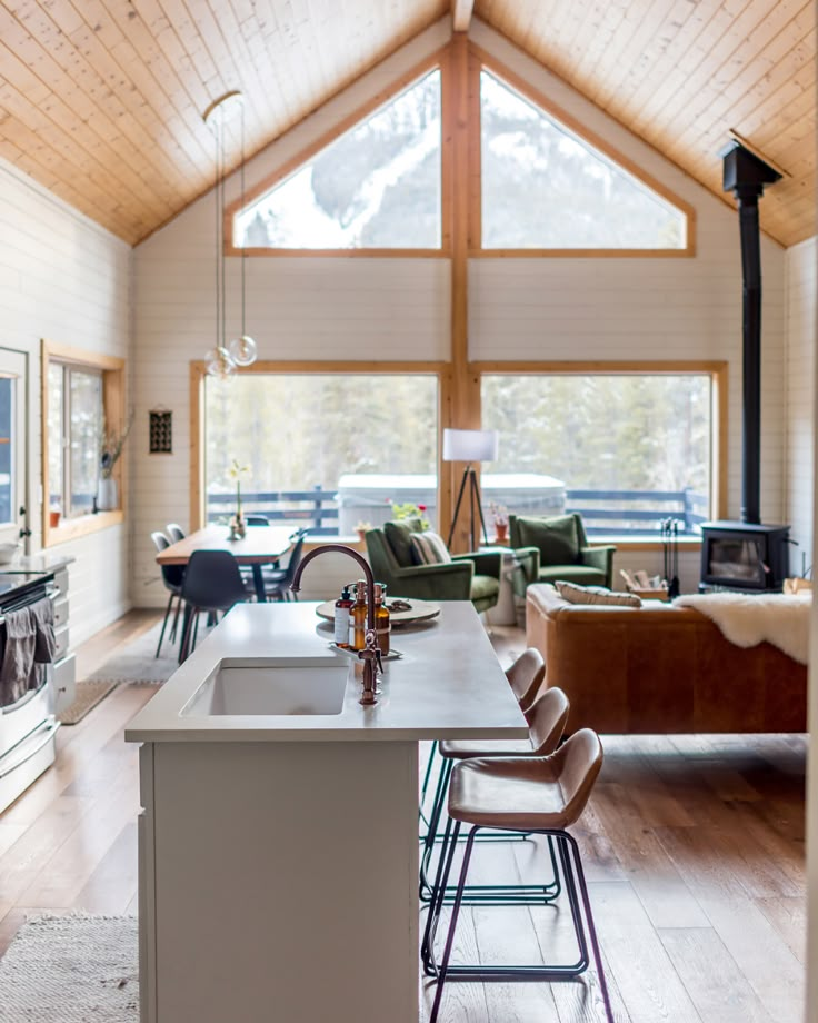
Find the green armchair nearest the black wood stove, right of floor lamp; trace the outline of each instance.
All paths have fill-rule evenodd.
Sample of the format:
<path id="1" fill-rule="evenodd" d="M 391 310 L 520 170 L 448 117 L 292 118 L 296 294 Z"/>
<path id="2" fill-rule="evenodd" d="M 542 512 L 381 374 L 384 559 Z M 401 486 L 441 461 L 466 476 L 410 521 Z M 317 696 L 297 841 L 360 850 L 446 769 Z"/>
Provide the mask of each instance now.
<path id="1" fill-rule="evenodd" d="M 523 564 L 526 583 L 553 583 L 565 579 L 581 586 L 607 586 L 614 579 L 614 552 L 610 544 L 591 547 L 578 512 L 549 518 L 509 515 L 512 547 L 536 547 L 537 570 Z"/>

